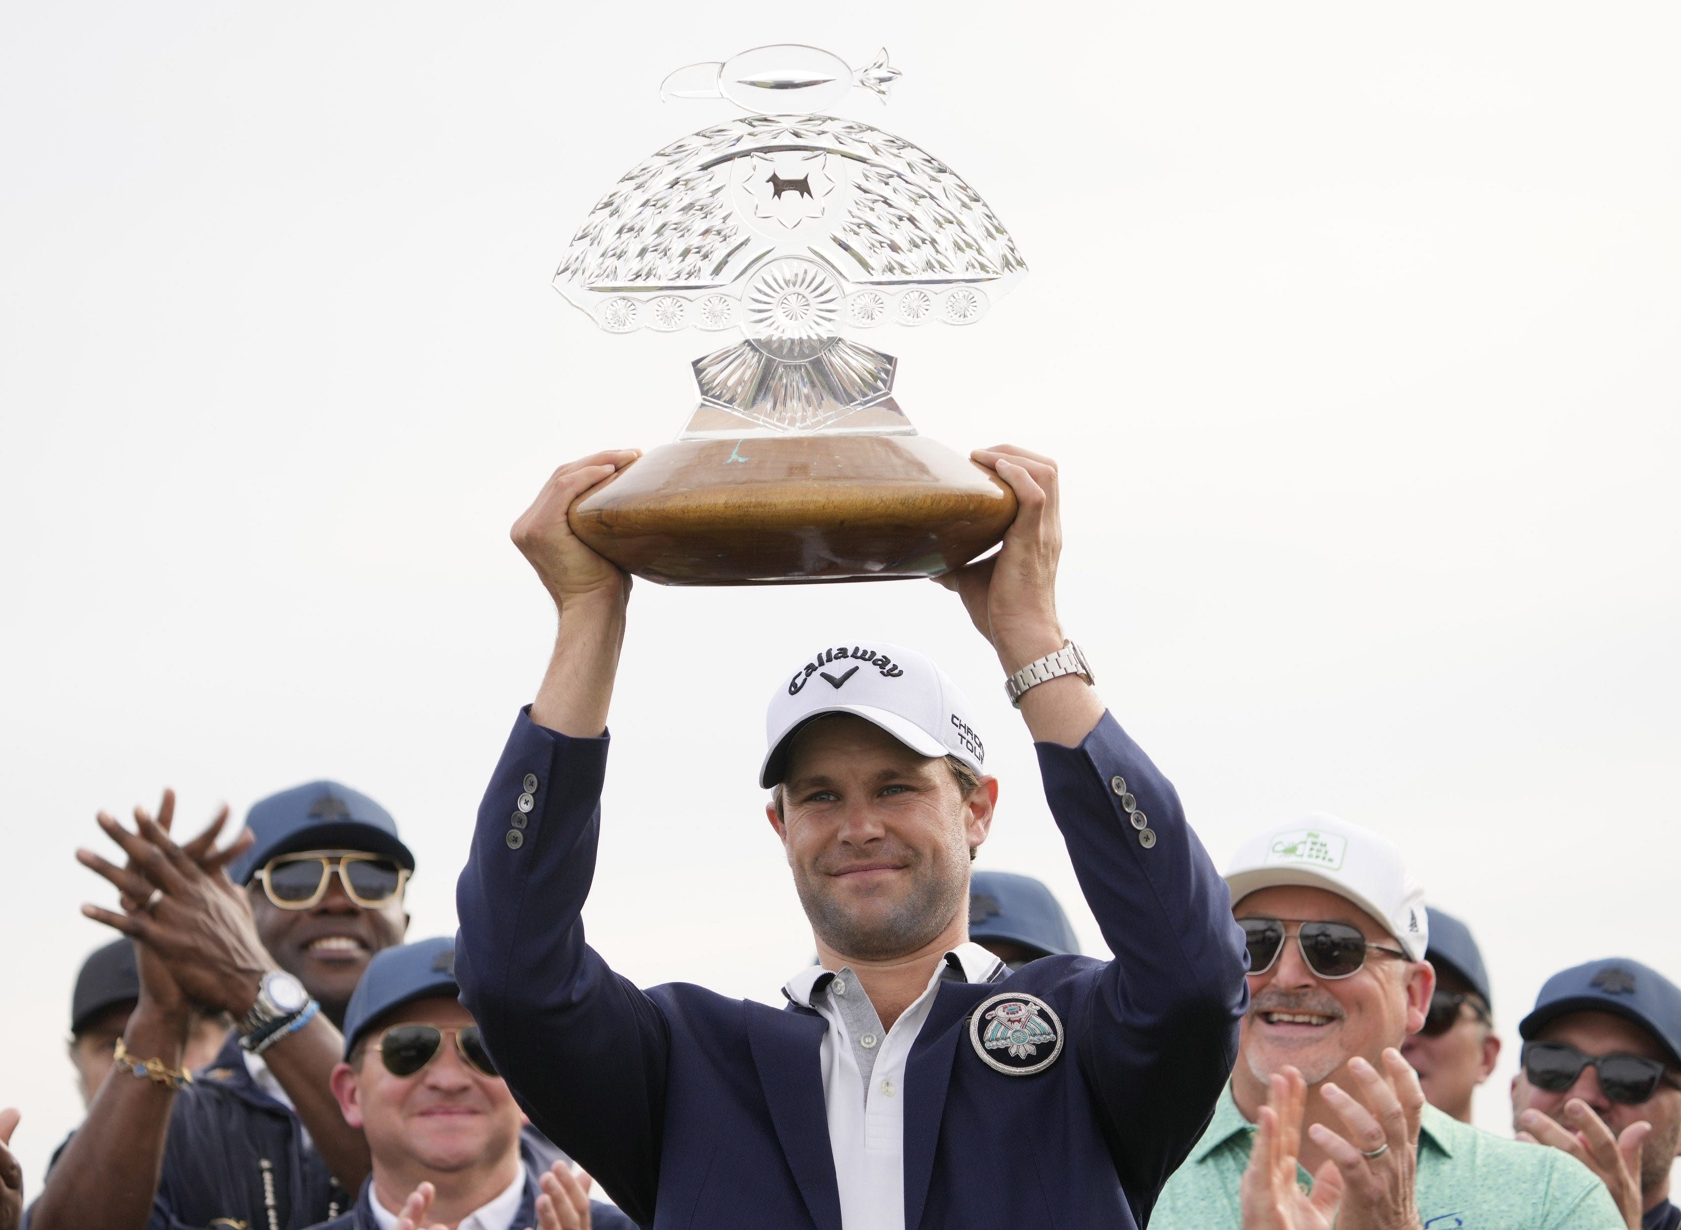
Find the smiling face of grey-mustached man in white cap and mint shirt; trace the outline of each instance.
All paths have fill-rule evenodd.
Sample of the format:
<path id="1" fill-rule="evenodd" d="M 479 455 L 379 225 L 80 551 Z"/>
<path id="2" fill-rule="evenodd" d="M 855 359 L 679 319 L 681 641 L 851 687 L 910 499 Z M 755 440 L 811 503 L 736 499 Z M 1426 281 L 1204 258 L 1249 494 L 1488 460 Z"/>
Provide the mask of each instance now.
<path id="1" fill-rule="evenodd" d="M 1367 943 L 1400 951 L 1394 936 L 1346 897 L 1326 889 L 1274 887 L 1251 892 L 1232 914 L 1244 917 L 1348 922 Z M 1424 1025 L 1436 975 L 1424 961 L 1407 961 L 1367 949 L 1365 965 L 1348 978 L 1320 978 L 1296 943 L 1296 922 L 1273 968 L 1249 978 L 1249 1013 L 1242 1020 L 1242 1060 L 1232 1074 L 1241 1106 L 1261 1106 L 1267 1077 L 1284 1065 L 1301 1070 L 1309 1085 L 1335 1077 L 1357 1089 L 1343 1072 L 1355 1055 L 1382 1070 L 1385 1047 L 1399 1047 Z"/>

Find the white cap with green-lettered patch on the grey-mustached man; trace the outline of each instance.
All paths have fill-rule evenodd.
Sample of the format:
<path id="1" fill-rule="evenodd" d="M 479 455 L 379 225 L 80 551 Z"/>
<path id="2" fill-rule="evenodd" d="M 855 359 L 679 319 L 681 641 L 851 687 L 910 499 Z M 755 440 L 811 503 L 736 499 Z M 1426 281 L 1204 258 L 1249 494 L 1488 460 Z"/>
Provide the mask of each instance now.
<path id="1" fill-rule="evenodd" d="M 1234 906 L 1251 892 L 1284 884 L 1348 897 L 1387 926 L 1414 961 L 1424 959 L 1431 941 L 1424 889 L 1407 874 L 1400 849 L 1335 815 L 1309 815 L 1251 837 L 1225 869 L 1225 884 Z"/>

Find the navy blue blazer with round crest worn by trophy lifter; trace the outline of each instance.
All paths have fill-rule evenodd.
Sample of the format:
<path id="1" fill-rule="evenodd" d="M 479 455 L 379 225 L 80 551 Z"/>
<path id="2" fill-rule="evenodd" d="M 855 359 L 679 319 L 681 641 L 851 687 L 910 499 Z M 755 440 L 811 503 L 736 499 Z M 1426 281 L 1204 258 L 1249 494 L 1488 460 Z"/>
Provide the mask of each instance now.
<path id="1" fill-rule="evenodd" d="M 1236 1059 L 1242 933 L 1173 786 L 1108 714 L 1079 748 L 1037 751 L 1116 959 L 940 985 L 904 1074 L 908 1230 L 1141 1227 Z M 605 768 L 605 734 L 514 723 L 456 891 L 462 1001 L 531 1119 L 639 1225 L 840 1230 L 824 1018 L 689 983 L 644 991 L 585 944 Z M 1000 990 L 1061 1017 L 1049 1069 L 1007 1075 L 970 1043 Z"/>

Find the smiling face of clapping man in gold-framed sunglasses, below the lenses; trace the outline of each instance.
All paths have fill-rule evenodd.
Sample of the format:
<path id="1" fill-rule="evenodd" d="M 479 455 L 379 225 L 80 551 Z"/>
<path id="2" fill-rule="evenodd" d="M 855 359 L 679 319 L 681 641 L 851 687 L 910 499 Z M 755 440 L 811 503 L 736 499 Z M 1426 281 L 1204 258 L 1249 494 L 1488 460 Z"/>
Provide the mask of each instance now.
<path id="1" fill-rule="evenodd" d="M 345 894 L 336 870 L 328 877 L 326 896 L 309 909 L 281 909 L 259 880 L 247 892 L 262 946 L 321 1001 L 335 1023 L 345 1020 L 350 995 L 373 954 L 403 943 L 408 929 L 400 896 L 378 909 L 363 909 Z"/>

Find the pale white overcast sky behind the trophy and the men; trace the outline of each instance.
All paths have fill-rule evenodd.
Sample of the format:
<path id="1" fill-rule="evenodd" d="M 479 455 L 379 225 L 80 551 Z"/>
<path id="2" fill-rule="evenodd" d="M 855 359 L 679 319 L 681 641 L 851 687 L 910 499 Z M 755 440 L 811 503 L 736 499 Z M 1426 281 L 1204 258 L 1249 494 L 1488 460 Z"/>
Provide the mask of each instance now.
<path id="1" fill-rule="evenodd" d="M 815 7 L 814 7 L 815 8 Z M 1030 276 L 884 331 L 953 447 L 1062 460 L 1062 615 L 1217 859 L 1333 810 L 1479 934 L 1508 1037 L 1557 968 L 1681 976 L 1671 5 L 235 5 L 0 10 L 0 1104 L 30 1191 L 77 1121 L 96 808 L 333 776 L 454 879 L 553 632 L 508 526 L 654 445 L 704 334 L 548 279 L 646 155 L 726 119 L 661 77 L 765 42 L 946 160 Z M 1004 780 L 982 865 L 1103 951 L 983 642 L 933 585 L 639 585 L 597 946 L 775 998 L 807 959 L 753 770 L 837 637 L 935 652 Z"/>

